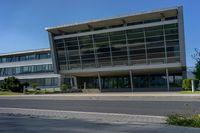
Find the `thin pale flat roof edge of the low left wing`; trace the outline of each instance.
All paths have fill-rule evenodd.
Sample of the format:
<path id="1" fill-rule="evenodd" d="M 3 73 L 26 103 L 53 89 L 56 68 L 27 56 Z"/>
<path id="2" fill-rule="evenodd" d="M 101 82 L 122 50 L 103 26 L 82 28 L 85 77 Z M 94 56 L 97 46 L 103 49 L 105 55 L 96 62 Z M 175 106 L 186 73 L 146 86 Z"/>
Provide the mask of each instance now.
<path id="1" fill-rule="evenodd" d="M 29 54 L 29 53 L 37 53 L 37 52 L 45 52 L 45 51 L 50 51 L 50 48 L 42 48 L 42 49 L 33 49 L 33 50 L 24 50 L 24 51 L 0 53 L 0 56 L 20 55 L 20 54 Z"/>

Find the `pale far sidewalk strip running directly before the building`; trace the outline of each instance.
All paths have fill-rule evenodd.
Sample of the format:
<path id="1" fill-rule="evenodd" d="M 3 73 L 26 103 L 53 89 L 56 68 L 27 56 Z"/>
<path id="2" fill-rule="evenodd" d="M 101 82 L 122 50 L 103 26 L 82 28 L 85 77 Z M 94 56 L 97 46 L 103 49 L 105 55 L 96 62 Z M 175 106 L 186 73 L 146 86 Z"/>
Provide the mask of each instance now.
<path id="1" fill-rule="evenodd" d="M 7 96 L 0 95 L 0 99 L 200 101 L 200 94 L 180 94 L 180 92 L 66 93 L 66 94 L 7 95 Z"/>

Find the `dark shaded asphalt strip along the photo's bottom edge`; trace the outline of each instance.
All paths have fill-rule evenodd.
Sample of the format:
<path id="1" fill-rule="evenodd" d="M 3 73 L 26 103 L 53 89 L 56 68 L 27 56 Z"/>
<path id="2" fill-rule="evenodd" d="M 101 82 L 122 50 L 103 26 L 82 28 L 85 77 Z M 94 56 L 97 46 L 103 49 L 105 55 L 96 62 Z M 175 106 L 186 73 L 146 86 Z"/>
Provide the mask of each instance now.
<path id="1" fill-rule="evenodd" d="M 0 114 L 1 133 L 199 133 L 199 128 L 160 124 L 99 123 L 78 119 L 46 119 Z"/>

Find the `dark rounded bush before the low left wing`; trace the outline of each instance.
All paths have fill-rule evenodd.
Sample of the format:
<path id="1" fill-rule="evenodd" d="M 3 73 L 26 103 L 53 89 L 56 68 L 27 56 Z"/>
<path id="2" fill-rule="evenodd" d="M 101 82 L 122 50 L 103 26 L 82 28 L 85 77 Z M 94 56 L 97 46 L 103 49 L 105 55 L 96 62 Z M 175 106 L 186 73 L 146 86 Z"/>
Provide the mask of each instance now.
<path id="1" fill-rule="evenodd" d="M 24 85 L 14 76 L 5 78 L 1 88 L 12 92 L 23 92 Z"/>

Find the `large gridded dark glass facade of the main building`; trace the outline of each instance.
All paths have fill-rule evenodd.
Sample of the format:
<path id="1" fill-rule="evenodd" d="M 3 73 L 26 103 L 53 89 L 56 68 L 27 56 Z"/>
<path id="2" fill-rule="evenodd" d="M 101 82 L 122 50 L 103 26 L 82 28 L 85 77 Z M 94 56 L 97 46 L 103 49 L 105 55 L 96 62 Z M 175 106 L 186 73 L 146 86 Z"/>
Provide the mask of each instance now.
<path id="1" fill-rule="evenodd" d="M 60 70 L 180 62 L 178 24 L 55 40 Z"/>

